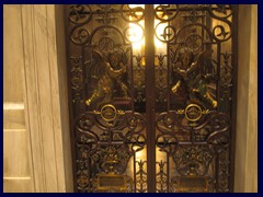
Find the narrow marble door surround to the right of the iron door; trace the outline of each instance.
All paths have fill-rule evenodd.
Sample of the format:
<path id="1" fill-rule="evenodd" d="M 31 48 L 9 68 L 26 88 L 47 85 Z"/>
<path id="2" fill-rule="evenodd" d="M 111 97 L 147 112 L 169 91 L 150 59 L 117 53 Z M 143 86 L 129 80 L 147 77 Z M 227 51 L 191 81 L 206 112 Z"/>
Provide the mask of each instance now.
<path id="1" fill-rule="evenodd" d="M 258 5 L 239 7 L 235 192 L 258 192 Z"/>

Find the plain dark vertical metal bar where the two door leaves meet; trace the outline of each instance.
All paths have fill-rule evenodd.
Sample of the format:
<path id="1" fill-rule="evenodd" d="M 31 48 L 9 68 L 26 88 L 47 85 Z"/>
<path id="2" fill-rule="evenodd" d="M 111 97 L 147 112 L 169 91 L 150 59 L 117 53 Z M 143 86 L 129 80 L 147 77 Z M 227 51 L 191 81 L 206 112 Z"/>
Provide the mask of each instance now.
<path id="1" fill-rule="evenodd" d="M 155 43 L 153 4 L 145 9 L 145 56 L 146 56 L 146 132 L 147 132 L 147 184 L 148 193 L 156 192 L 156 129 L 155 129 Z M 150 172 L 150 173 L 149 173 Z"/>

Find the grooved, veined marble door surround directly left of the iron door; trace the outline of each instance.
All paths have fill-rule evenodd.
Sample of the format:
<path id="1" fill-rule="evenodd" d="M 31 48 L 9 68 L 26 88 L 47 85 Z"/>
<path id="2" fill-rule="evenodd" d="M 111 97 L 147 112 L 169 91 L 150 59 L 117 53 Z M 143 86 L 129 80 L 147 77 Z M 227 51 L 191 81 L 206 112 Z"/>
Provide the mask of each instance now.
<path id="1" fill-rule="evenodd" d="M 71 178 L 72 183 L 72 176 L 66 176 L 65 170 L 65 160 L 68 161 L 65 155 L 70 154 L 70 144 L 64 141 L 69 126 L 68 116 L 61 111 L 67 112 L 68 106 L 61 108 L 60 103 L 65 95 L 59 92 L 59 83 L 64 81 L 58 77 L 61 66 L 57 59 L 55 15 L 52 4 L 22 5 L 23 32 L 27 32 L 24 34 L 26 108 L 36 192 L 66 192 L 69 188 L 66 179 Z M 67 166 L 71 166 L 71 160 L 69 162 Z"/>

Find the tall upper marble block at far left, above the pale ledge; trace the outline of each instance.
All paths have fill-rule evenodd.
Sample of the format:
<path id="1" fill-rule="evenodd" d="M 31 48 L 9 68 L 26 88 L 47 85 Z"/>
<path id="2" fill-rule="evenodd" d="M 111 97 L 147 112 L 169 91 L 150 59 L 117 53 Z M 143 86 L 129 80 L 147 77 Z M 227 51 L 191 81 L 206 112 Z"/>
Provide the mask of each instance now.
<path id="1" fill-rule="evenodd" d="M 23 40 L 20 5 L 3 9 L 3 102 L 23 101 Z"/>

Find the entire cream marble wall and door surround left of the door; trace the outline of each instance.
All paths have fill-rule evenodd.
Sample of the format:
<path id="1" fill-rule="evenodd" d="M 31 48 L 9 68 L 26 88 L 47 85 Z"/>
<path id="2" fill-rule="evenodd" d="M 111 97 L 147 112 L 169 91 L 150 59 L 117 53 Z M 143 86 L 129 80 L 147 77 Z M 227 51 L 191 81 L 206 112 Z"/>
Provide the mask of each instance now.
<path id="1" fill-rule="evenodd" d="M 4 109 L 4 192 L 72 192 L 64 21 L 52 4 L 3 10 L 3 106 L 24 106 Z"/>

